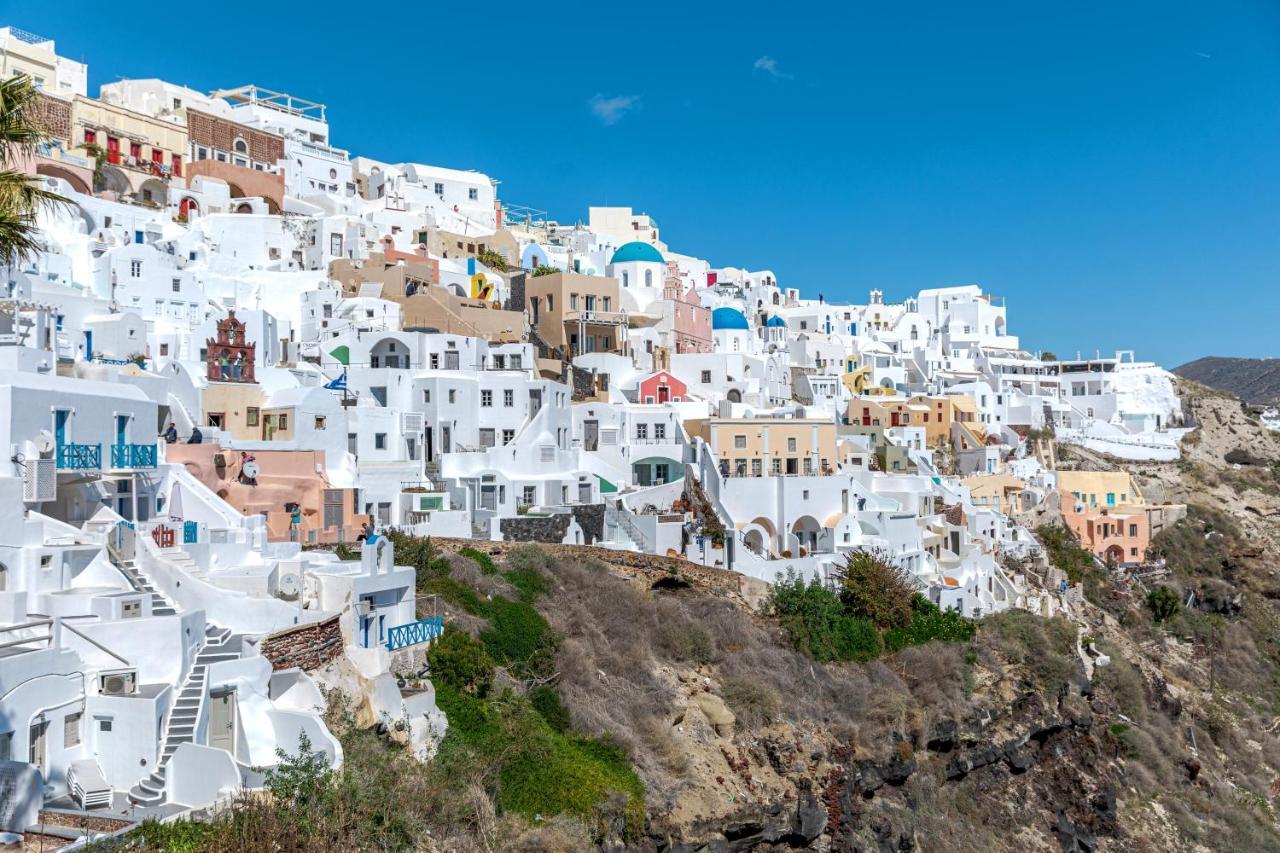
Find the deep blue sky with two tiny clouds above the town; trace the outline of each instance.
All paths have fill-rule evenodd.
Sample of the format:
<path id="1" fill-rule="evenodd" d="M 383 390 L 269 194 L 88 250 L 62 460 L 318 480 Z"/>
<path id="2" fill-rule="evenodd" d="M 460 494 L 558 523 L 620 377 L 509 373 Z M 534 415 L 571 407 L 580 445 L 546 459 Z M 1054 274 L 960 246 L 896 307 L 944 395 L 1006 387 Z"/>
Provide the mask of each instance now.
<path id="1" fill-rule="evenodd" d="M 396 6 L 0 18 L 91 92 L 289 91 L 353 152 L 631 205 L 828 300 L 978 283 L 1029 348 L 1280 356 L 1274 0 Z"/>

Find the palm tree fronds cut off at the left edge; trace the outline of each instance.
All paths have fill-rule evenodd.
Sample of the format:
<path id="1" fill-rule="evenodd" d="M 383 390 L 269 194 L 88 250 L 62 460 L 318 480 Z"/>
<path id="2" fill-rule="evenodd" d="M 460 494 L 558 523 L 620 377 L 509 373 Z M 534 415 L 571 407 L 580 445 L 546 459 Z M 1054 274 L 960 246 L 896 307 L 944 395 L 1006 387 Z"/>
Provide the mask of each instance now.
<path id="1" fill-rule="evenodd" d="M 29 77 L 19 74 L 0 81 L 0 265 L 4 266 L 40 251 L 36 214 L 41 207 L 70 204 L 18 169 L 49 138 L 36 114 L 41 97 Z"/>

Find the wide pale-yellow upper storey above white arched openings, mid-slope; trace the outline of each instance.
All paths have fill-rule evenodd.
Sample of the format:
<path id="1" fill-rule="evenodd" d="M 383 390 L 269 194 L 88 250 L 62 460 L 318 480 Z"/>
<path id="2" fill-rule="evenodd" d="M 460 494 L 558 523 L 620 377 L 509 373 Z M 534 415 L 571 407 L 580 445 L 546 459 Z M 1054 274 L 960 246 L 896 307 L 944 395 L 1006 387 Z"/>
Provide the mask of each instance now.
<path id="1" fill-rule="evenodd" d="M 835 471 L 836 424 L 829 420 L 712 419 L 698 429 L 719 460 L 721 473 L 728 476 Z"/>

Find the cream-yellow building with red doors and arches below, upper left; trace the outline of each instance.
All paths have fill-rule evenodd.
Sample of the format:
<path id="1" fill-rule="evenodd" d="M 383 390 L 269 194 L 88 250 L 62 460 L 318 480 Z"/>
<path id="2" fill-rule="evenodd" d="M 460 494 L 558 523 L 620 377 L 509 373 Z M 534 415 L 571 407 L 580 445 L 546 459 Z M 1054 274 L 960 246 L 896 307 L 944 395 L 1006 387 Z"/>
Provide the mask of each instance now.
<path id="1" fill-rule="evenodd" d="M 108 191 L 165 204 L 170 179 L 182 182 L 187 128 L 77 95 L 72 101 L 72 146 L 102 156 Z"/>

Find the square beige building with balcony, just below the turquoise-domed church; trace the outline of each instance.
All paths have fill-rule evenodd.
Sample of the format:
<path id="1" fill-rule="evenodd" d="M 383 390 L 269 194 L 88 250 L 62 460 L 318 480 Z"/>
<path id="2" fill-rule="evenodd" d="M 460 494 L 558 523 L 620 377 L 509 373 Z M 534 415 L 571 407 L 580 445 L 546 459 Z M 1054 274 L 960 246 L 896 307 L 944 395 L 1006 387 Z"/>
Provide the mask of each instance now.
<path id="1" fill-rule="evenodd" d="M 627 315 L 621 310 L 616 278 L 530 275 L 525 279 L 525 305 L 539 337 L 563 359 L 627 350 Z"/>

